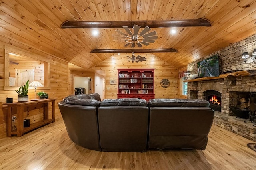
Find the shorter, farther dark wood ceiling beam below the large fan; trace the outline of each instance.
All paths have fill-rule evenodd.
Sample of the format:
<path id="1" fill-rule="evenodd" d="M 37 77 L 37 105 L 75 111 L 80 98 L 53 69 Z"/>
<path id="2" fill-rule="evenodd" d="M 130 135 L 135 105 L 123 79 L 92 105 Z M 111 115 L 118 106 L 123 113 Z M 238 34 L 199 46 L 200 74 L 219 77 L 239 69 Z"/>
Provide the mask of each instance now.
<path id="1" fill-rule="evenodd" d="M 162 49 L 94 49 L 90 53 L 177 53 L 173 48 Z"/>

